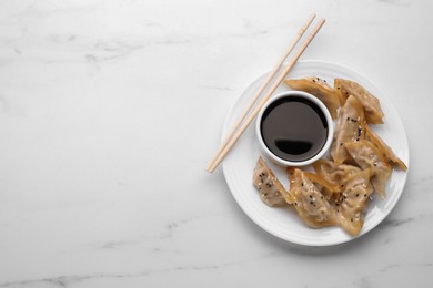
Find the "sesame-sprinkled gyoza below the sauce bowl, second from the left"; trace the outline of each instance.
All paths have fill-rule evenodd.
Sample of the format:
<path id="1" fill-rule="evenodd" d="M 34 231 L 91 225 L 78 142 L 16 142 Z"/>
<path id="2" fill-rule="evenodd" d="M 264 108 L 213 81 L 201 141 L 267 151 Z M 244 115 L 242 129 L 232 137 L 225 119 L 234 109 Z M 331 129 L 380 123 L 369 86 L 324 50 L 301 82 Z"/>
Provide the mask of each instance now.
<path id="1" fill-rule="evenodd" d="M 293 197 L 293 207 L 310 227 L 320 228 L 338 224 L 335 210 L 299 168 L 290 171 L 290 195 Z"/>

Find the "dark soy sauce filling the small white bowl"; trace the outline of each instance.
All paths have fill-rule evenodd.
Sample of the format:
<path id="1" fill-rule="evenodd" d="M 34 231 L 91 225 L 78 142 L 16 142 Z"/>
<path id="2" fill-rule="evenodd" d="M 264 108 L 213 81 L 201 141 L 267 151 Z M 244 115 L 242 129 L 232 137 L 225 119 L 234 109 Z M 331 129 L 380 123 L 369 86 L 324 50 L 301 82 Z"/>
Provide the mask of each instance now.
<path id="1" fill-rule="evenodd" d="M 283 97 L 268 106 L 260 128 L 268 148 L 292 162 L 318 154 L 326 142 L 329 130 L 318 105 L 299 96 Z"/>

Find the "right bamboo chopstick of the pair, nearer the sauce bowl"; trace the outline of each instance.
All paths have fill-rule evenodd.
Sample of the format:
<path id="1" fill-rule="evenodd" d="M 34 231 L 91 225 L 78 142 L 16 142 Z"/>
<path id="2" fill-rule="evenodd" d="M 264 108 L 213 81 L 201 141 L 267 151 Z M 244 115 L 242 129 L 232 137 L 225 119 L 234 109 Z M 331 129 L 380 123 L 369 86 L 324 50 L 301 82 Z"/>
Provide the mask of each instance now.
<path id="1" fill-rule="evenodd" d="M 230 150 L 233 147 L 233 145 L 238 142 L 238 140 L 241 137 L 243 132 L 248 128 L 248 126 L 251 124 L 251 122 L 254 120 L 254 117 L 259 114 L 261 107 L 266 103 L 266 101 L 271 97 L 273 92 L 275 92 L 276 88 L 281 84 L 281 82 L 284 80 L 285 75 L 289 73 L 290 70 L 294 66 L 296 61 L 300 59 L 302 53 L 305 51 L 305 49 L 309 47 L 311 41 L 314 39 L 314 37 L 318 34 L 319 30 L 324 24 L 325 20 L 320 19 L 319 23 L 315 25 L 313 31 L 309 34 L 305 42 L 302 44 L 302 47 L 299 49 L 296 54 L 293 56 L 293 59 L 288 63 L 284 71 L 280 74 L 280 76 L 276 79 L 276 81 L 273 83 L 273 85 L 270 88 L 265 96 L 260 101 L 260 103 L 254 107 L 254 110 L 250 113 L 249 117 L 245 122 L 243 122 L 242 126 L 239 127 L 236 133 L 230 137 L 230 141 L 228 144 L 222 148 L 221 153 L 218 154 L 215 161 L 211 163 L 211 165 L 207 168 L 208 172 L 212 173 L 215 171 L 218 165 L 220 165 L 221 161 L 225 157 L 225 155 L 230 152 Z"/>

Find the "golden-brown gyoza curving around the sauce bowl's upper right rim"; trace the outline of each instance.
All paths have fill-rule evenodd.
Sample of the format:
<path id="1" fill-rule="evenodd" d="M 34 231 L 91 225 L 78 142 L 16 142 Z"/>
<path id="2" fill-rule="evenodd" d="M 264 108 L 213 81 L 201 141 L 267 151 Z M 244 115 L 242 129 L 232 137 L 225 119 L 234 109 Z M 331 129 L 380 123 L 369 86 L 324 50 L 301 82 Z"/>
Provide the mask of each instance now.
<path id="1" fill-rule="evenodd" d="M 340 107 L 340 100 L 334 89 L 328 85 L 325 80 L 316 76 L 303 79 L 289 79 L 284 83 L 294 90 L 304 91 L 316 96 L 325 104 L 332 119 L 336 119 L 336 110 Z"/>

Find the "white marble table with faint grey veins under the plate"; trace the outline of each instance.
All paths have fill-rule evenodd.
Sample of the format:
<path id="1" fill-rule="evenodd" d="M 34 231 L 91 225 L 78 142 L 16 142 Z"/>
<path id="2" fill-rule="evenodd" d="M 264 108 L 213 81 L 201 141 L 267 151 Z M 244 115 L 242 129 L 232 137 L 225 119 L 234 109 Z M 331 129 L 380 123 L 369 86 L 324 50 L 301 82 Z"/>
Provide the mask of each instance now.
<path id="1" fill-rule="evenodd" d="M 433 2 L 0 2 L 0 287 L 431 287 Z M 302 59 L 386 91 L 403 195 L 367 235 L 305 247 L 204 172 L 235 99 L 311 13 Z"/>

